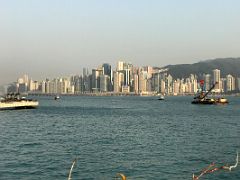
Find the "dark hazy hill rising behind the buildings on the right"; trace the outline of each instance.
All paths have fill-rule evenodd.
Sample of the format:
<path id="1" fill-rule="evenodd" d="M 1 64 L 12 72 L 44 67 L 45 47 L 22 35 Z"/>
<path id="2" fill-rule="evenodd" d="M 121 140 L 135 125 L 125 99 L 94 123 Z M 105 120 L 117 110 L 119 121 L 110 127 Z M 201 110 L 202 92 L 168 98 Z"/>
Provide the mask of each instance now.
<path id="1" fill-rule="evenodd" d="M 194 64 L 168 65 L 169 74 L 173 78 L 186 78 L 190 74 L 201 77 L 203 74 L 212 74 L 213 69 L 221 70 L 221 77 L 231 74 L 240 77 L 240 58 L 218 58 L 213 60 L 200 61 Z"/>

